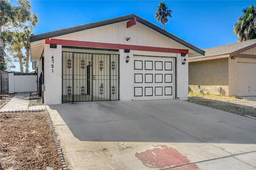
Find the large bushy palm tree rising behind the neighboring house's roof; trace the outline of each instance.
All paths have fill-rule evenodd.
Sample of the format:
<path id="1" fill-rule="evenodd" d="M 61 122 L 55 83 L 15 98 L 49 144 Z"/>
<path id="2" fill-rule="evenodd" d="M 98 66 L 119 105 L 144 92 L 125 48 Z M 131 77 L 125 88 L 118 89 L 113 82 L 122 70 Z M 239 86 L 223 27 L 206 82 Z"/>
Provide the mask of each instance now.
<path id="1" fill-rule="evenodd" d="M 254 5 L 242 9 L 242 12 L 243 14 L 237 19 L 233 30 L 238 37 L 238 42 L 256 38 L 256 9 Z"/>

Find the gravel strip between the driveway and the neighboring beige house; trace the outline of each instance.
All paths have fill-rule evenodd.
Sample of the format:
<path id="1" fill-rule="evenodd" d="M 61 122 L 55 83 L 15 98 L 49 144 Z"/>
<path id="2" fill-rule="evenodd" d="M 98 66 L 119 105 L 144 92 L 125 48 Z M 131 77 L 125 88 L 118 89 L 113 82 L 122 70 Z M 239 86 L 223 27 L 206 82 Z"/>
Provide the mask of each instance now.
<path id="1" fill-rule="evenodd" d="M 236 115 L 256 117 L 256 101 L 235 98 L 215 99 L 207 96 L 191 96 L 188 97 L 188 101 Z"/>

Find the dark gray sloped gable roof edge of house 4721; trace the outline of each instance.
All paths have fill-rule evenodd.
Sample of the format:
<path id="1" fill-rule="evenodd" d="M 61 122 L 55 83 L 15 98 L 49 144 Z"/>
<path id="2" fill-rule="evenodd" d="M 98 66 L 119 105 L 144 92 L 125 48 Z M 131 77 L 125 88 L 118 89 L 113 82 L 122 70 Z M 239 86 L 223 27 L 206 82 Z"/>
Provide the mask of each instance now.
<path id="1" fill-rule="evenodd" d="M 103 21 L 99 21 L 99 22 L 93 22 L 93 23 L 84 24 L 84 25 L 81 25 L 81 26 L 65 28 L 65 29 L 62 29 L 62 30 L 52 31 L 52 32 L 44 33 L 44 34 L 38 34 L 38 35 L 35 35 L 35 36 L 31 36 L 30 37 L 30 42 L 36 42 L 36 41 L 44 40 L 44 39 L 47 39 L 47 38 L 62 36 L 62 35 L 65 35 L 65 34 L 70 34 L 70 33 L 74 33 L 74 32 L 88 30 L 88 29 L 91 29 L 91 28 L 96 28 L 96 27 L 100 27 L 100 26 L 114 24 L 114 23 L 117 23 L 117 22 L 132 20 L 134 18 L 136 18 L 136 20 L 139 23 L 144 24 L 145 26 L 151 28 L 152 30 L 155 30 L 156 32 L 159 32 L 160 34 L 163 34 L 164 36 L 166 36 L 166 37 L 168 37 L 168 38 L 170 38 L 170 39 L 172 39 L 172 40 L 174 40 L 174 41 L 192 49 L 196 53 L 204 55 L 204 51 L 202 49 L 200 49 L 200 48 L 182 40 L 181 38 L 179 38 L 177 36 L 174 36 L 173 34 L 167 32 L 166 30 L 163 30 L 162 28 L 152 24 L 151 22 L 148 22 L 148 21 L 144 20 L 143 18 L 140 18 L 139 16 L 137 16 L 135 14 L 120 16 L 120 17 L 117 17 L 117 18 L 112 18 L 112 19 L 103 20 Z"/>

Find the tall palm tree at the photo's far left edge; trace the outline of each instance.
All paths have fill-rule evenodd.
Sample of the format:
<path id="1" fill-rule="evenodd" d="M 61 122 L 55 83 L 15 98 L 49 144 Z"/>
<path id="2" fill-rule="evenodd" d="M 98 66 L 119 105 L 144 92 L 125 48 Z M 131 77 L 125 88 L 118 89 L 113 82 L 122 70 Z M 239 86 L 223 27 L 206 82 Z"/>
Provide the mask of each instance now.
<path id="1" fill-rule="evenodd" d="M 7 0 L 0 0 L 0 61 L 3 61 L 5 56 L 2 27 L 10 20 L 14 20 L 12 5 Z"/>

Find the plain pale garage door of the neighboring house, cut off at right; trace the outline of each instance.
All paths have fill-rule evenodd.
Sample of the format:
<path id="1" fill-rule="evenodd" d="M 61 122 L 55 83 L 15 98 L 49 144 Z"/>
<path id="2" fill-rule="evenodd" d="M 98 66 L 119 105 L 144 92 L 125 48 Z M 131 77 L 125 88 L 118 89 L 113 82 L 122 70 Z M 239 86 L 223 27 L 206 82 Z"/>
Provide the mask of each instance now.
<path id="1" fill-rule="evenodd" d="M 256 96 L 256 63 L 238 63 L 238 96 Z"/>

